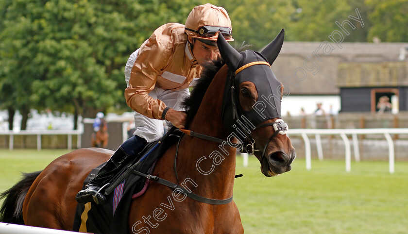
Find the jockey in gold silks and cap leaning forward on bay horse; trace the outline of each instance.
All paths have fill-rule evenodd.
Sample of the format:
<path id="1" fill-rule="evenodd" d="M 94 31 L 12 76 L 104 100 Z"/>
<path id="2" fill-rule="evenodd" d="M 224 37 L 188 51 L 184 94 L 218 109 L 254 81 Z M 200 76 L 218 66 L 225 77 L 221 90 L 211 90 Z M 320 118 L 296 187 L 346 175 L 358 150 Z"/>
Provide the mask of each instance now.
<path id="1" fill-rule="evenodd" d="M 180 103 L 190 94 L 188 87 L 199 78 L 202 66 L 220 56 L 219 33 L 227 41 L 234 40 L 228 13 L 207 3 L 194 7 L 185 25 L 168 23 L 159 27 L 132 53 L 125 68 L 125 98 L 135 111 L 136 131 L 77 194 L 79 203 L 105 202 L 101 187 L 148 142 L 161 138 L 163 120 L 177 128 L 185 127 L 187 116 Z"/>

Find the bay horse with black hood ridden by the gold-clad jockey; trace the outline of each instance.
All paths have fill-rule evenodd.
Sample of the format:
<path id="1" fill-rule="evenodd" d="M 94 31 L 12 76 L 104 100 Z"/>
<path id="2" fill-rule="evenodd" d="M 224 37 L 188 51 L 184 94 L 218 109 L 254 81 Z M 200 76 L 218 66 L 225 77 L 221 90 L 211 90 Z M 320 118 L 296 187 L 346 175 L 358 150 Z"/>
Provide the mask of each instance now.
<path id="1" fill-rule="evenodd" d="M 185 101 L 187 129 L 191 131 L 185 132 L 190 135 L 184 134 L 178 146 L 170 146 L 152 173 L 160 173 L 161 178 L 181 184 L 198 196 L 231 199 L 231 202 L 196 201 L 150 181 L 145 194 L 130 204 L 128 232 L 243 233 L 238 208 L 232 200 L 237 148 L 254 153 L 261 172 L 267 177 L 289 171 L 296 155 L 285 126 L 279 125 L 283 123 L 280 100 L 274 101 L 275 108 L 269 104 L 258 105 L 265 95 L 272 95 L 271 89 L 265 93 L 266 84 L 277 81 L 269 65 L 282 42 L 283 30 L 260 53 L 251 50 L 238 53 L 223 36 L 218 37 L 225 65 L 214 63 L 204 72 Z M 253 115 L 256 111 L 265 115 Z M 192 131 L 202 134 L 201 138 L 195 137 Z M 238 141 L 242 138 L 239 134 L 245 136 L 240 139 L 242 142 Z M 203 135 L 207 138 L 203 139 Z M 220 144 L 214 139 L 225 141 Z M 91 169 L 108 160 L 112 153 L 98 148 L 74 150 L 55 159 L 42 172 L 26 174 L 21 182 L 2 194 L 6 201 L 0 221 L 71 230 L 76 193 Z"/>

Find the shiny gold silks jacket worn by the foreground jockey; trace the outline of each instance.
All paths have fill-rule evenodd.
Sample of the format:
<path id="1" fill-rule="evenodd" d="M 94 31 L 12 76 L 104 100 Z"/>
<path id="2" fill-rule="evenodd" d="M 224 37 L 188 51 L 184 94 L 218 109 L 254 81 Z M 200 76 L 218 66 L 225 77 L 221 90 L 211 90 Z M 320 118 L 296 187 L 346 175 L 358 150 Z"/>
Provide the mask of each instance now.
<path id="1" fill-rule="evenodd" d="M 166 104 L 148 94 L 155 86 L 164 90 L 185 89 L 199 78 L 202 67 L 195 60 L 184 33 L 184 25 L 165 24 L 140 47 L 132 67 L 126 103 L 134 111 L 162 119 Z"/>

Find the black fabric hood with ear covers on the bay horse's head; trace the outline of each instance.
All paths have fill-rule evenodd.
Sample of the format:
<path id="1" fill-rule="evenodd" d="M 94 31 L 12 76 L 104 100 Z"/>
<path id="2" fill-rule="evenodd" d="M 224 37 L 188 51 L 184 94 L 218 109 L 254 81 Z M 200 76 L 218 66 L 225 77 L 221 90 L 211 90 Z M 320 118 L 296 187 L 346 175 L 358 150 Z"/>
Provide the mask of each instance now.
<path id="1" fill-rule="evenodd" d="M 282 48 L 283 39 L 284 30 L 282 29 L 276 38 L 261 52 L 245 50 L 239 53 L 222 36 L 218 37 L 218 48 L 221 57 L 230 70 L 230 79 L 225 86 L 221 111 L 223 126 L 230 132 L 234 132 L 232 123 L 234 123 L 234 120 L 240 119 L 241 115 L 246 117 L 254 126 L 268 119 L 281 117 L 282 84 L 276 79 L 270 65 L 275 61 Z M 260 77 L 266 77 L 267 79 L 259 79 Z M 239 84 L 246 81 L 255 84 L 258 100 L 249 111 L 242 110 L 237 103 L 238 113 L 235 113 L 234 107 L 230 103 L 234 103 L 233 99 L 239 100 Z M 234 92 L 234 90 L 236 91 Z M 234 93 L 231 94 L 231 92 Z M 234 116 L 237 114 L 238 116 Z"/>

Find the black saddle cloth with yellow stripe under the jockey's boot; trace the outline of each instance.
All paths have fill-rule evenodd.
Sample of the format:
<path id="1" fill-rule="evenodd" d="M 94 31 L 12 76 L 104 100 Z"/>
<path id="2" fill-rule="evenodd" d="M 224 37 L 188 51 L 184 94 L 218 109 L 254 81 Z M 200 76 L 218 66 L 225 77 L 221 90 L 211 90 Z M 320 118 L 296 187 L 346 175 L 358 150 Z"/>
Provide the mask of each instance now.
<path id="1" fill-rule="evenodd" d="M 138 158 L 149 155 L 143 162 L 136 167 L 137 171 L 145 174 L 153 172 L 155 162 L 169 149 L 171 145 L 179 140 L 181 133 L 173 133 L 163 137 L 159 142 L 154 142 L 145 147 Z M 155 147 L 156 146 L 156 147 Z M 153 149 L 153 150 L 152 150 Z M 136 163 L 134 160 L 132 163 Z M 92 169 L 84 181 L 84 186 L 92 180 L 99 169 L 104 164 Z M 88 232 L 98 234 L 127 234 L 128 233 L 128 214 L 132 197 L 136 198 L 142 195 L 149 184 L 149 179 L 141 178 L 136 174 L 130 174 L 124 182 L 119 184 L 115 191 L 107 196 L 107 202 L 102 205 L 96 205 L 94 202 L 88 202 L 85 205 L 77 204 L 75 212 L 73 231 Z"/>

